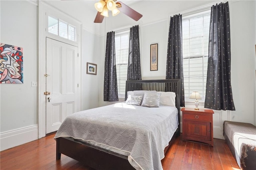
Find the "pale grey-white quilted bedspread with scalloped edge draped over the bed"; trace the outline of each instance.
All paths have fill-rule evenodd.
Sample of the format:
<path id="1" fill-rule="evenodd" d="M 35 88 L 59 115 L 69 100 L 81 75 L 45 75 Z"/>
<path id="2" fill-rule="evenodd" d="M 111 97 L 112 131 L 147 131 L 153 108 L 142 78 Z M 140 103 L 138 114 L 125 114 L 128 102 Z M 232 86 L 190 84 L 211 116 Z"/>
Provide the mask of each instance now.
<path id="1" fill-rule="evenodd" d="M 162 170 L 164 148 L 177 128 L 175 107 L 116 103 L 70 115 L 55 138 L 70 136 L 110 146 L 123 151 L 137 170 Z"/>

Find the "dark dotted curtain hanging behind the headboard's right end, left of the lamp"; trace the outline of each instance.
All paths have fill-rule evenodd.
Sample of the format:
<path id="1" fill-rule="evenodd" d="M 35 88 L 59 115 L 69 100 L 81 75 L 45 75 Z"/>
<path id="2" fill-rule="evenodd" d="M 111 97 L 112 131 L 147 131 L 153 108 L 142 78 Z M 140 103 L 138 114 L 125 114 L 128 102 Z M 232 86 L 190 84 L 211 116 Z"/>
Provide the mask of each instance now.
<path id="1" fill-rule="evenodd" d="M 166 79 L 180 79 L 180 106 L 185 107 L 182 55 L 182 16 L 180 14 L 170 18 Z"/>

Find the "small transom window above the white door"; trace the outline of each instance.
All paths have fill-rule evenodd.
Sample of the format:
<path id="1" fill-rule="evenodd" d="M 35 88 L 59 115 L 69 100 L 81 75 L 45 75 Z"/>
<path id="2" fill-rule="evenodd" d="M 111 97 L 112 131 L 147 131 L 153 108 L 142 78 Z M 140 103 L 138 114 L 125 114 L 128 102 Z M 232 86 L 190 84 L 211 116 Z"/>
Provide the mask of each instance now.
<path id="1" fill-rule="evenodd" d="M 48 16 L 48 32 L 76 42 L 76 27 L 51 16 Z"/>

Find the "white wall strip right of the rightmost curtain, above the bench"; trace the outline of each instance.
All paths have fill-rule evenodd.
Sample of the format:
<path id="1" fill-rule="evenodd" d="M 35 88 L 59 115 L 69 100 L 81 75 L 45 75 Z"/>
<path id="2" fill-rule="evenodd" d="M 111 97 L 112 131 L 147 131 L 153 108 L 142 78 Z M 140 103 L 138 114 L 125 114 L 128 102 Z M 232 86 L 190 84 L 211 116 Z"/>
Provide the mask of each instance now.
<path id="1" fill-rule="evenodd" d="M 256 1 L 230 3 L 231 84 L 236 111 L 231 120 L 254 124 Z M 255 124 L 254 124 L 255 125 Z"/>

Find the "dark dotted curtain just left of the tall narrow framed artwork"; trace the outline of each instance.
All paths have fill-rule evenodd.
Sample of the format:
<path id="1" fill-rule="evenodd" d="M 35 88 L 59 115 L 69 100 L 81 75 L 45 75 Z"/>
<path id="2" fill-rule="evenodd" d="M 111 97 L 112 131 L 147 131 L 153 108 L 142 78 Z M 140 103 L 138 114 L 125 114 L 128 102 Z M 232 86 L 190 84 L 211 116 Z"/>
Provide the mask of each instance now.
<path id="1" fill-rule="evenodd" d="M 141 80 L 139 26 L 130 28 L 127 80 Z"/>

